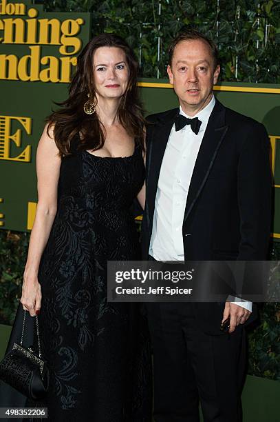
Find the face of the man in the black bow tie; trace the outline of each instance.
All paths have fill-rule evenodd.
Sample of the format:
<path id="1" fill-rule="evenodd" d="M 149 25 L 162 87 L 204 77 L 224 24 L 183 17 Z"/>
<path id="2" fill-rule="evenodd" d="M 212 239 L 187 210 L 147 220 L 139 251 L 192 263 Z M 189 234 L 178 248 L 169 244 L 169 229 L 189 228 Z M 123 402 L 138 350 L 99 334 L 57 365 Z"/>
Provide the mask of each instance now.
<path id="1" fill-rule="evenodd" d="M 219 66 L 214 68 L 206 41 L 195 39 L 177 44 L 167 72 L 183 110 L 197 112 L 208 104 L 219 70 Z"/>

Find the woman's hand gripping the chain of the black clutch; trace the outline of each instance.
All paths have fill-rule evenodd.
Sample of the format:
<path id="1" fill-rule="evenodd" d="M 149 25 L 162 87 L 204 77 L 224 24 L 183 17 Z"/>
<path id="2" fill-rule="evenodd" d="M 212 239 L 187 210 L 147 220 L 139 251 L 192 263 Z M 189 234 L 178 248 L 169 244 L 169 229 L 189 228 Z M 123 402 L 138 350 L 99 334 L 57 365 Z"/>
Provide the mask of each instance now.
<path id="1" fill-rule="evenodd" d="M 41 309 L 41 285 L 36 276 L 23 276 L 23 287 L 21 294 L 21 303 L 24 310 L 28 310 L 31 316 L 39 314 Z"/>

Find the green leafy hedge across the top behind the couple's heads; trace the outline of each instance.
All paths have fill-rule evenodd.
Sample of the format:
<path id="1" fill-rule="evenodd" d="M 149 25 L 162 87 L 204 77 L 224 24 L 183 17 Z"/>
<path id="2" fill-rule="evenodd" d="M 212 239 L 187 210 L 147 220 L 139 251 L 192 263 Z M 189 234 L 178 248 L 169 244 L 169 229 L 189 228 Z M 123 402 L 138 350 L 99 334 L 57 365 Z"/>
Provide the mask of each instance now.
<path id="1" fill-rule="evenodd" d="M 280 83 L 280 0 L 48 0 L 48 11 L 91 12 L 92 35 L 116 32 L 142 77 L 166 77 L 169 43 L 184 28 L 214 39 L 222 80 Z"/>

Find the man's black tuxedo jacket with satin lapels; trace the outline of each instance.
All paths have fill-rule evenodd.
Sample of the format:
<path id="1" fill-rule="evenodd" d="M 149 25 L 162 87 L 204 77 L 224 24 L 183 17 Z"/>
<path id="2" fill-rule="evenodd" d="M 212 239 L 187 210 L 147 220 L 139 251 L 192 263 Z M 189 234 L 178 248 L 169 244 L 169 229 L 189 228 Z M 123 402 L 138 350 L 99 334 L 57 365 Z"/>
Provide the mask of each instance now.
<path id="1" fill-rule="evenodd" d="M 178 112 L 175 108 L 147 118 L 147 193 L 141 234 L 144 260 L 149 254 L 162 158 Z M 272 186 L 269 157 L 264 126 L 216 99 L 186 200 L 182 225 L 185 260 L 267 259 Z M 224 303 L 196 303 L 195 308 L 204 331 L 220 334 Z"/>

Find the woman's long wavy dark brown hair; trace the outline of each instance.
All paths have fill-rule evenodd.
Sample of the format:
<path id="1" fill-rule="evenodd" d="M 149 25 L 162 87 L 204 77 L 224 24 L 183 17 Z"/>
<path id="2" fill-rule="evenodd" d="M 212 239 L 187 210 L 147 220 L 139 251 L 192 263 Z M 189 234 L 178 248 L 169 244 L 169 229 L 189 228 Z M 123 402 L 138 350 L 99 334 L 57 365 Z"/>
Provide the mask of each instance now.
<path id="1" fill-rule="evenodd" d="M 143 146 L 144 119 L 140 104 L 137 83 L 138 62 L 125 40 L 115 34 L 101 34 L 94 37 L 83 48 L 78 56 L 76 74 L 69 86 L 69 97 L 63 103 L 57 103 L 61 108 L 47 118 L 47 132 L 54 128 L 54 141 L 61 156 L 70 154 L 70 145 L 74 137 L 82 134 L 80 149 L 98 150 L 105 143 L 105 129 L 98 114 L 86 114 L 83 110 L 85 102 L 96 97 L 94 89 L 94 52 L 99 47 L 117 47 L 125 52 L 129 68 L 127 90 L 121 97 L 118 108 L 118 120 L 136 141 Z"/>

